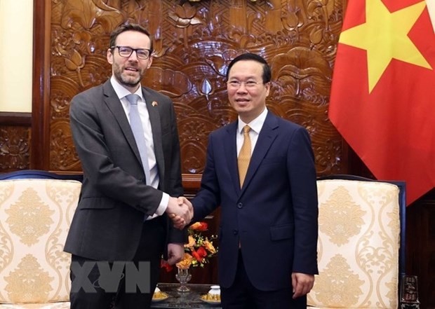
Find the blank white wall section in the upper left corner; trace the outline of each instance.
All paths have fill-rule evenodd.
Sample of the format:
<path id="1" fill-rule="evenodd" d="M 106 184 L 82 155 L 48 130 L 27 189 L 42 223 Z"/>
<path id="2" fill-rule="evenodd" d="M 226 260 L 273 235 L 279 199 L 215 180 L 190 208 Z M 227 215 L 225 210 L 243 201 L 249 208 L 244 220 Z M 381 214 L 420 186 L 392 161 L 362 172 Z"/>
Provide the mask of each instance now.
<path id="1" fill-rule="evenodd" d="M 32 111 L 33 0 L 0 0 L 0 111 Z"/>

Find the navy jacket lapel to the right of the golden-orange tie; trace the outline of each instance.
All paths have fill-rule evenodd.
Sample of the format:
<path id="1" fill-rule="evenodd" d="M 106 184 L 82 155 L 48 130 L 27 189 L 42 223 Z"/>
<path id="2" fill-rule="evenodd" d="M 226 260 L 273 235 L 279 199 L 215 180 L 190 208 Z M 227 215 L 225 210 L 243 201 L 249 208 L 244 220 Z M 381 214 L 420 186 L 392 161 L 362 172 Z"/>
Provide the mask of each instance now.
<path id="1" fill-rule="evenodd" d="M 262 162 L 263 158 L 265 158 L 267 151 L 269 151 L 270 146 L 272 146 L 272 143 L 276 139 L 276 128 L 278 128 L 278 121 L 272 113 L 268 112 L 265 123 L 260 131 L 260 135 L 258 135 L 253 155 L 250 158 L 248 171 L 246 172 L 245 181 L 243 182 L 243 187 L 241 188 L 242 194 L 243 191 L 246 190 L 246 187 L 249 185 L 251 179 L 253 179 L 255 172 L 260 166 L 260 163 Z"/>

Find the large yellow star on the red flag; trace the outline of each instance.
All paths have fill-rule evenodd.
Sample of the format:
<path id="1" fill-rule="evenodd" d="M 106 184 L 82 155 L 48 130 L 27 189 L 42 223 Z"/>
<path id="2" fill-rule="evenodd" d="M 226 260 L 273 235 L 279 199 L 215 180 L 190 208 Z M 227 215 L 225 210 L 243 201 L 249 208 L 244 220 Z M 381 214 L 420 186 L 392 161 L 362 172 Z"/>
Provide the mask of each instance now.
<path id="1" fill-rule="evenodd" d="M 340 34 L 340 43 L 367 50 L 369 92 L 391 59 L 431 69 L 408 36 L 425 7 L 426 3 L 421 1 L 391 13 L 381 0 L 367 0 L 366 22 Z"/>

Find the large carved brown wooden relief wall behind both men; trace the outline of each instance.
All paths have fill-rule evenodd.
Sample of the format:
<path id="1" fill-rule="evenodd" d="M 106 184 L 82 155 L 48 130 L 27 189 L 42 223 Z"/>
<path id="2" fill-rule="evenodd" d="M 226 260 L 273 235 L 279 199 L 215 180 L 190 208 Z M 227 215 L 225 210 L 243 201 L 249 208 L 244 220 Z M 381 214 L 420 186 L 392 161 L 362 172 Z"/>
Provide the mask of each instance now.
<path id="1" fill-rule="evenodd" d="M 318 174 L 344 172 L 342 139 L 327 115 L 344 1 L 52 0 L 50 169 L 81 170 L 69 102 L 109 78 L 109 33 L 130 21 L 154 35 L 142 83 L 175 103 L 183 173 L 201 174 L 208 133 L 236 119 L 225 72 L 246 51 L 272 66 L 267 106 L 309 130 Z"/>

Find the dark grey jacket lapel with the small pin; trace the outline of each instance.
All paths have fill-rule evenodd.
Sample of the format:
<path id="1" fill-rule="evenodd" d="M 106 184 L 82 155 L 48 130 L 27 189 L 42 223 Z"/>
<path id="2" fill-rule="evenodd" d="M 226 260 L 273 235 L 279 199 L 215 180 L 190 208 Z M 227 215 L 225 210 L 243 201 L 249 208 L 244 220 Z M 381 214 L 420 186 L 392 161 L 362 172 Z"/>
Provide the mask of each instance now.
<path id="1" fill-rule="evenodd" d="M 161 142 L 161 122 L 159 108 L 153 105 L 153 102 L 158 102 L 158 99 L 151 92 L 142 87 L 147 104 L 149 122 L 152 128 L 152 140 L 154 142 L 154 155 L 156 156 L 157 168 L 159 169 L 159 179 L 165 179 L 165 160 L 163 157 L 163 144 Z"/>

